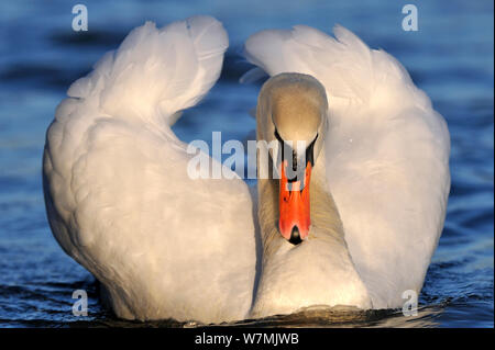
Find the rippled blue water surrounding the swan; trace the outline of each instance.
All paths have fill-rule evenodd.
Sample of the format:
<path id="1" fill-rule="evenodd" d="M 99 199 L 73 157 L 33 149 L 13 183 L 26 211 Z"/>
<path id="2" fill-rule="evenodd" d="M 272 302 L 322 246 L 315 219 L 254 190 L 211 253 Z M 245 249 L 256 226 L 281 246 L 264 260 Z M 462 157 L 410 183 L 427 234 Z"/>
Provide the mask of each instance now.
<path id="1" fill-rule="evenodd" d="M 231 47 L 219 83 L 185 113 L 186 142 L 245 139 L 257 86 L 239 86 L 248 65 L 237 53 L 255 31 L 340 23 L 397 57 L 447 118 L 452 190 L 446 228 L 420 295 L 418 316 L 397 312 L 308 311 L 233 326 L 493 327 L 493 2 L 424 1 L 419 32 L 404 32 L 395 1 L 85 1 L 89 32 L 75 33 L 69 1 L 0 4 L 0 327 L 195 326 L 116 319 L 98 301 L 92 276 L 64 255 L 50 232 L 41 183 L 45 129 L 69 83 L 144 20 L 168 23 L 197 13 L 223 22 Z M 209 115 L 205 127 L 200 115 Z M 88 317 L 72 314 L 72 293 L 89 294 Z"/>

